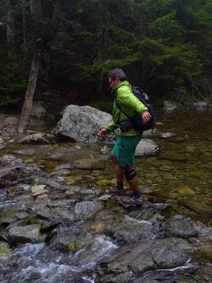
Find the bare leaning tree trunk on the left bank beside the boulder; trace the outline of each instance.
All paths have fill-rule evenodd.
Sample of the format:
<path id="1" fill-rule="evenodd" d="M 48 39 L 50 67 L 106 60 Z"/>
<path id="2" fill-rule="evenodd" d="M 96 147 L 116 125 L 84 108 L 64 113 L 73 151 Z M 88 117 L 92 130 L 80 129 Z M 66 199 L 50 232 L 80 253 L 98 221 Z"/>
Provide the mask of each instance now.
<path id="1" fill-rule="evenodd" d="M 33 62 L 31 64 L 28 88 L 25 93 L 25 100 L 23 103 L 22 112 L 20 115 L 20 122 L 18 125 L 18 132 L 23 133 L 25 127 L 28 125 L 28 121 L 30 118 L 30 113 L 33 107 L 33 97 L 36 89 L 37 76 L 40 67 L 40 58 L 42 57 L 42 53 L 45 50 L 45 45 L 42 40 L 39 38 L 35 42 L 35 51 L 33 55 Z"/>

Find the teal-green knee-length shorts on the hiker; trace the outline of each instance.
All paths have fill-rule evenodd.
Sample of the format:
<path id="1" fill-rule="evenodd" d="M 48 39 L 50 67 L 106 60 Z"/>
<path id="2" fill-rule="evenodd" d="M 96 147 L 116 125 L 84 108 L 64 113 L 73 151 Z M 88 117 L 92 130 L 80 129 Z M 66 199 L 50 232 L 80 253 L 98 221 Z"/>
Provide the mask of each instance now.
<path id="1" fill-rule="evenodd" d="M 116 143 L 112 149 L 112 155 L 117 157 L 119 166 L 133 166 L 135 161 L 136 146 L 139 144 L 141 136 L 122 137 L 117 136 Z"/>

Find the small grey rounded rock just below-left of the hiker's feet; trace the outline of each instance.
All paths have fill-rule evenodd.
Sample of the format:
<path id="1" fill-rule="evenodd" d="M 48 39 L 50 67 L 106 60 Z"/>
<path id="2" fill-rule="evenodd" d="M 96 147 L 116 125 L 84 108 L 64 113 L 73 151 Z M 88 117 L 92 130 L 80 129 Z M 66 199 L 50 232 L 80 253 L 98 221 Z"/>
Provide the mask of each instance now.
<path id="1" fill-rule="evenodd" d="M 76 219 L 89 219 L 101 209 L 102 205 L 98 201 L 78 202 L 74 207 Z"/>

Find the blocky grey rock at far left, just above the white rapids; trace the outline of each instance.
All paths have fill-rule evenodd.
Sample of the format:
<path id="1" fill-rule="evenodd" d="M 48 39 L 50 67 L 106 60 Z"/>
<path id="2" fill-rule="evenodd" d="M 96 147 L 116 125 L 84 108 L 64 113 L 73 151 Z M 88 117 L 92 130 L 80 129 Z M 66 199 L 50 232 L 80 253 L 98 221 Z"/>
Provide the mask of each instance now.
<path id="1" fill-rule="evenodd" d="M 38 243 L 43 240 L 37 224 L 12 227 L 8 230 L 8 237 L 11 243 Z"/>

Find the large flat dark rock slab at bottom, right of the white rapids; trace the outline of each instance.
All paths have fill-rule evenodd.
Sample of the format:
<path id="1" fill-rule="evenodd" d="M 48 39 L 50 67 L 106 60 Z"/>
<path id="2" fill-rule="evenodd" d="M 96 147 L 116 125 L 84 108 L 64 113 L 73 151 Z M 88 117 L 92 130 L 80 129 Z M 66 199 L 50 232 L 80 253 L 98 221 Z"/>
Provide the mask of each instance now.
<path id="1" fill-rule="evenodd" d="M 140 272 L 183 265 L 191 250 L 192 245 L 180 238 L 125 245 L 100 262 L 97 282 L 129 283 Z"/>

